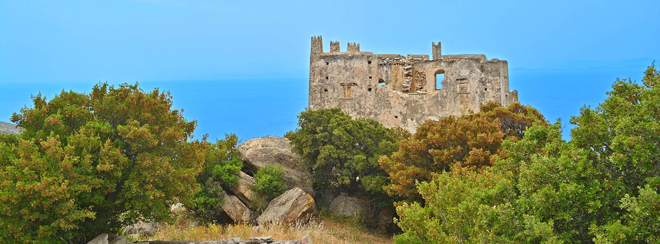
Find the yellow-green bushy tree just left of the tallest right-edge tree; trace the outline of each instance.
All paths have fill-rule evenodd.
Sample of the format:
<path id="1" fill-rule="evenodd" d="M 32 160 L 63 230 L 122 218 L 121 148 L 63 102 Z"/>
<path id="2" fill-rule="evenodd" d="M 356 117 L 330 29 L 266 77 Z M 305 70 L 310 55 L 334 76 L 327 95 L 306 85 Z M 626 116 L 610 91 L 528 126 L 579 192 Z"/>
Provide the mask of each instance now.
<path id="1" fill-rule="evenodd" d="M 613 218 L 612 185 L 585 151 L 537 124 L 479 171 L 455 168 L 418 183 L 424 205 L 401 203 L 395 243 L 590 243 L 591 226 Z"/>

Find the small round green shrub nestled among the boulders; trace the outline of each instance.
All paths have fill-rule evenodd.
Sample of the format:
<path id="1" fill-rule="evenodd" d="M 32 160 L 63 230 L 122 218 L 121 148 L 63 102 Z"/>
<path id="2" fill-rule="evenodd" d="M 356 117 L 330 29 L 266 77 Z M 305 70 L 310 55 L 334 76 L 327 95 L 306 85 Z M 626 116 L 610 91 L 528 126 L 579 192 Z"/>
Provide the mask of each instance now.
<path id="1" fill-rule="evenodd" d="M 267 197 L 268 200 L 276 198 L 286 191 L 284 170 L 281 166 L 263 166 L 255 173 L 254 180 L 257 181 L 257 185 L 250 186 L 252 191 Z"/>

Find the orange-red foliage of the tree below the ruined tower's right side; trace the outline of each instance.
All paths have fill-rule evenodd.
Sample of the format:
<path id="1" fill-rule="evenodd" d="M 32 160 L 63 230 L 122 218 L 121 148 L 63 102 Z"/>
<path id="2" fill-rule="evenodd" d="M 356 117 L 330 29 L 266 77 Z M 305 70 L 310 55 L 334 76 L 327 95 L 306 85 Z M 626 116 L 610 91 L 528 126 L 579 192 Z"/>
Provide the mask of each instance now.
<path id="1" fill-rule="evenodd" d="M 482 105 L 479 113 L 425 121 L 412 138 L 401 140 L 398 152 L 380 158 L 391 181 L 385 190 L 391 196 L 418 200 L 416 182 L 429 181 L 452 168 L 476 171 L 490 166 L 502 142 L 519 140 L 535 121 L 546 123 L 532 107 L 502 107 L 497 102 Z"/>

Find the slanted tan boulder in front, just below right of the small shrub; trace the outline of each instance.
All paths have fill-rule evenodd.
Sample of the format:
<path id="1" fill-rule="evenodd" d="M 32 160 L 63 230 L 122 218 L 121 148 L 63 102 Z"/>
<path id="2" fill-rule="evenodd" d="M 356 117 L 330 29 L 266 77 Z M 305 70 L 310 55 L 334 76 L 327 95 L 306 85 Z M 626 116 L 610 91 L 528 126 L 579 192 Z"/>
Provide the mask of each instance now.
<path id="1" fill-rule="evenodd" d="M 298 220 L 306 220 L 315 211 L 316 204 L 314 204 L 312 195 L 296 187 L 271 200 L 263 214 L 257 218 L 257 224 L 263 225 L 271 222 L 291 224 Z"/>

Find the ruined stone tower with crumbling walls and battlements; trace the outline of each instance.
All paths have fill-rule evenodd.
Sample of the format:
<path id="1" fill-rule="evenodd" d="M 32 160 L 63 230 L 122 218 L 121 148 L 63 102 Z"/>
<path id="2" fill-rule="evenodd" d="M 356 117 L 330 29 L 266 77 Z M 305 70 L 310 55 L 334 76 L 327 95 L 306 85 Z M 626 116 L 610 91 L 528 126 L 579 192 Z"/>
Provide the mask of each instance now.
<path id="1" fill-rule="evenodd" d="M 486 55 L 442 55 L 440 42 L 428 55 L 374 54 L 331 42 L 323 52 L 312 37 L 310 109 L 340 107 L 352 117 L 372 118 L 386 127 L 415 131 L 426 119 L 465 115 L 479 105 L 517 102 L 509 90 L 508 65 Z"/>

